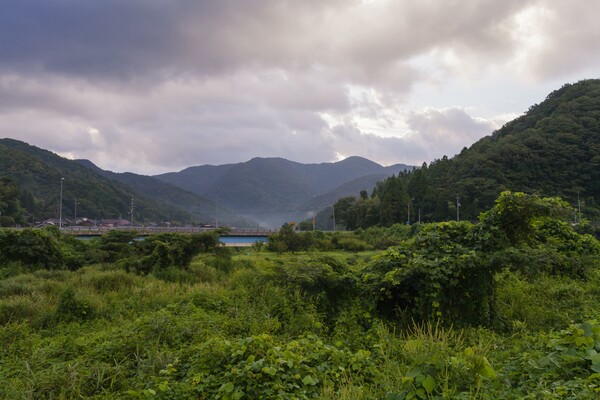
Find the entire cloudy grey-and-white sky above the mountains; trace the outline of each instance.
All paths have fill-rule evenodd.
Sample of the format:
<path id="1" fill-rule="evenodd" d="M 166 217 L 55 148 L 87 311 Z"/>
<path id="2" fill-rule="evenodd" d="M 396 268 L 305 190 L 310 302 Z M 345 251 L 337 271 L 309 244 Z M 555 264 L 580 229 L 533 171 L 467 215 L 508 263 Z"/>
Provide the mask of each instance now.
<path id="1" fill-rule="evenodd" d="M 3 0 L 0 137 L 102 168 L 452 156 L 600 78 L 597 0 Z"/>

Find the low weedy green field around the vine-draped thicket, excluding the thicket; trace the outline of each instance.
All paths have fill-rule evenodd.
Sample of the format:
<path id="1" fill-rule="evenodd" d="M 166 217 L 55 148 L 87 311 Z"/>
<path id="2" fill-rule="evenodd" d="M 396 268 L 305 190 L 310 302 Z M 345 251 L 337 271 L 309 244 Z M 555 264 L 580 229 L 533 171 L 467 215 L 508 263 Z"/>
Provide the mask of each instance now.
<path id="1" fill-rule="evenodd" d="M 356 296 L 382 252 L 200 255 L 6 269 L 0 397 L 597 398 L 600 274 L 496 275 L 497 321 L 381 318 Z M 591 322 L 586 322 L 591 321 Z"/>

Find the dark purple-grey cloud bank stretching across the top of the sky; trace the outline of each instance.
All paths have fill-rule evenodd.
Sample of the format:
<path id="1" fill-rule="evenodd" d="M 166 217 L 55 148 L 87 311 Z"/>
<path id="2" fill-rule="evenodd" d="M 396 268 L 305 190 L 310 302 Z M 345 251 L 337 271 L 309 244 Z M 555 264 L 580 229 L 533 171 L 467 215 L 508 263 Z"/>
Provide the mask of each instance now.
<path id="1" fill-rule="evenodd" d="M 322 66 L 393 85 L 432 48 L 505 48 L 502 22 L 525 4 L 19 0 L 0 17 L 0 66 L 108 80 Z"/>

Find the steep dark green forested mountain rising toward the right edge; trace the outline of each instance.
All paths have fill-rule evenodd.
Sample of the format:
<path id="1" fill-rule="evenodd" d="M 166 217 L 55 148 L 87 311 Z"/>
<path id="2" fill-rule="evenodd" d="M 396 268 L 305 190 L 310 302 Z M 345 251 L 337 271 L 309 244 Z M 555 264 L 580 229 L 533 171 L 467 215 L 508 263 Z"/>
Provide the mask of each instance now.
<path id="1" fill-rule="evenodd" d="M 600 219 L 600 80 L 568 84 L 521 117 L 449 159 L 377 185 L 368 199 L 338 203 L 349 228 L 475 219 L 503 190 L 561 196 Z M 369 217 L 367 217 L 367 214 Z M 573 219 L 579 218 L 573 215 Z"/>

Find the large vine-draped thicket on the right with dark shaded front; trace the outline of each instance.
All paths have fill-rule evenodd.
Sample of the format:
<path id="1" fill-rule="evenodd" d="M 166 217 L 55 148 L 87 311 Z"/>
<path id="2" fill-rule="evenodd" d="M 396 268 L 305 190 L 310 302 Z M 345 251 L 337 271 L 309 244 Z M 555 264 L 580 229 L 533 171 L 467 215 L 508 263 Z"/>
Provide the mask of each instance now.
<path id="1" fill-rule="evenodd" d="M 597 265 L 599 243 L 551 218 L 563 209 L 559 199 L 504 192 L 479 224 L 427 224 L 379 255 L 362 280 L 390 317 L 490 325 L 503 268 L 583 278 Z"/>

